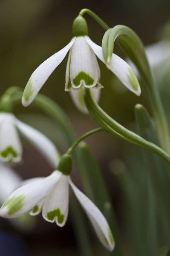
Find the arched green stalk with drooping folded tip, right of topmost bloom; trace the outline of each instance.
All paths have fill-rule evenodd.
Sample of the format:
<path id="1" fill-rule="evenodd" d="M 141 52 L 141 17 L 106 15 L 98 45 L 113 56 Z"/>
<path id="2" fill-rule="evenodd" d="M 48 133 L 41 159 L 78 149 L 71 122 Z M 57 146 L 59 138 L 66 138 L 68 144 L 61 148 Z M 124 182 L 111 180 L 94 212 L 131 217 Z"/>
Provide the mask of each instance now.
<path id="1" fill-rule="evenodd" d="M 114 42 L 126 52 L 127 56 L 134 62 L 141 75 L 145 90 L 155 117 L 157 134 L 162 148 L 170 154 L 170 136 L 166 115 L 155 83 L 152 71 L 147 61 L 145 48 L 138 35 L 129 27 L 117 25 L 106 31 L 102 41 L 102 49 L 106 65 L 110 64 Z"/>

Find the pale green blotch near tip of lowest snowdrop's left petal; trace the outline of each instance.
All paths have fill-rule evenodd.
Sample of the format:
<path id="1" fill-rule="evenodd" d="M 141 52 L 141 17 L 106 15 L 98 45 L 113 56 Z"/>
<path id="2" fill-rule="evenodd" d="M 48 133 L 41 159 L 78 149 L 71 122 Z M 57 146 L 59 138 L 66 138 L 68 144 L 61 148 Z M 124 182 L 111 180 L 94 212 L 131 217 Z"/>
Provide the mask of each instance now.
<path id="1" fill-rule="evenodd" d="M 8 215 L 12 215 L 12 214 L 16 213 L 17 211 L 21 210 L 21 208 L 24 205 L 24 203 L 23 203 L 24 199 L 25 199 L 25 195 L 13 196 L 5 201 L 2 208 L 7 207 Z"/>

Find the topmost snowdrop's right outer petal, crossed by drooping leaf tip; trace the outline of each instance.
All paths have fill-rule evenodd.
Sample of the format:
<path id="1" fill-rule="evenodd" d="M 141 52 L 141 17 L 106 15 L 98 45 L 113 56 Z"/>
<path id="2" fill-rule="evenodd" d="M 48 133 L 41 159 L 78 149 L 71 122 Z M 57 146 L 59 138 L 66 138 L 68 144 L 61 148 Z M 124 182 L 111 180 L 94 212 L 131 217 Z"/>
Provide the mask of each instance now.
<path id="1" fill-rule="evenodd" d="M 103 63 L 105 63 L 102 47 L 96 45 L 93 41 L 91 41 L 89 37 L 85 36 L 85 38 L 92 50 L 94 50 L 94 53 L 98 56 L 98 58 Z M 129 90 L 133 91 L 133 93 L 138 96 L 141 94 L 141 88 L 139 86 L 138 79 L 134 74 L 132 68 L 129 64 L 126 63 L 126 61 L 122 60 L 119 56 L 113 53 L 111 64 L 108 69 L 110 69 Z"/>

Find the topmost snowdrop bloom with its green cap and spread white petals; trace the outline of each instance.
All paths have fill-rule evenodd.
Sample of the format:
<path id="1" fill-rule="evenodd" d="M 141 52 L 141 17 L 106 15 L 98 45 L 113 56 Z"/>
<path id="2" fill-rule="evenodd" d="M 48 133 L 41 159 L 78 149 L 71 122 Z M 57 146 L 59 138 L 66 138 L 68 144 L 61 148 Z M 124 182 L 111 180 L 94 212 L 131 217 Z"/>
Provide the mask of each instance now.
<path id="1" fill-rule="evenodd" d="M 96 45 L 88 37 L 86 20 L 78 16 L 73 23 L 73 38 L 63 49 L 45 60 L 31 75 L 25 87 L 22 103 L 28 106 L 54 69 L 62 62 L 69 51 L 66 68 L 65 91 L 71 91 L 75 105 L 84 109 L 83 97 L 79 97 L 78 89 L 82 87 L 94 88 L 93 95 L 99 100 L 100 69 L 96 56 L 103 62 L 102 47 Z M 120 81 L 135 94 L 140 95 L 141 89 L 138 80 L 130 65 L 113 53 L 111 64 L 108 67 Z M 83 106 L 83 107 L 82 107 Z"/>

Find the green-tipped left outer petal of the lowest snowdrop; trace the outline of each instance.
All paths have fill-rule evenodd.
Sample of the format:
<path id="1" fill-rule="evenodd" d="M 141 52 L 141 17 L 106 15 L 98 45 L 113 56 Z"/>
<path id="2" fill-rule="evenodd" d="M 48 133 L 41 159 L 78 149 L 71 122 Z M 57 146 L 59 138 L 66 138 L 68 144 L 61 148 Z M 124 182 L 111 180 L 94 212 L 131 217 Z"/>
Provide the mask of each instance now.
<path id="1" fill-rule="evenodd" d="M 44 180 L 31 182 L 16 189 L 1 207 L 0 215 L 14 218 L 30 211 L 48 195 L 60 177 L 61 174 L 54 171 Z"/>

